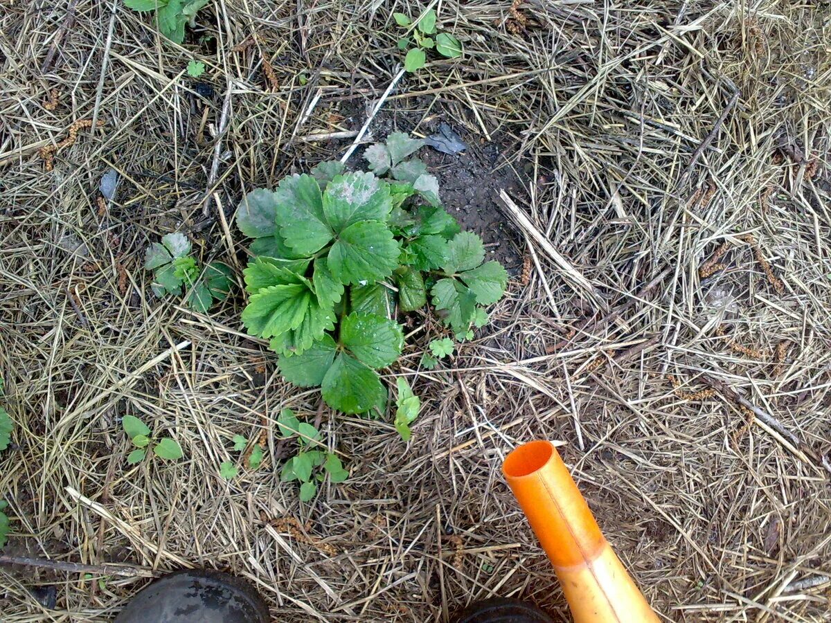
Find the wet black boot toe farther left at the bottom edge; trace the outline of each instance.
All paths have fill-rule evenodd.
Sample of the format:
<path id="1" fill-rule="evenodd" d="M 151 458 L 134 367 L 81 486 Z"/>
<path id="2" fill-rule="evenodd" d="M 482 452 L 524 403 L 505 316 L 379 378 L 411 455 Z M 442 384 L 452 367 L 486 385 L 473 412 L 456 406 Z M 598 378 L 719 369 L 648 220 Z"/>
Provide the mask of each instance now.
<path id="1" fill-rule="evenodd" d="M 268 606 L 247 581 L 220 571 L 176 571 L 139 591 L 116 623 L 268 623 Z"/>

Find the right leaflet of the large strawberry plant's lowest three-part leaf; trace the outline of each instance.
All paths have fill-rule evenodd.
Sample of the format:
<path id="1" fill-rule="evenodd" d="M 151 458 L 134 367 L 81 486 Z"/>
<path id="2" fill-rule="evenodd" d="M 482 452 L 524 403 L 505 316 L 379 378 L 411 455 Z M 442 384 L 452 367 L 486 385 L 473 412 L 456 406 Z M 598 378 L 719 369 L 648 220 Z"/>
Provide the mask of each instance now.
<path id="1" fill-rule="evenodd" d="M 341 322 L 341 342 L 358 361 L 383 368 L 401 355 L 404 333 L 389 318 L 352 312 Z"/>

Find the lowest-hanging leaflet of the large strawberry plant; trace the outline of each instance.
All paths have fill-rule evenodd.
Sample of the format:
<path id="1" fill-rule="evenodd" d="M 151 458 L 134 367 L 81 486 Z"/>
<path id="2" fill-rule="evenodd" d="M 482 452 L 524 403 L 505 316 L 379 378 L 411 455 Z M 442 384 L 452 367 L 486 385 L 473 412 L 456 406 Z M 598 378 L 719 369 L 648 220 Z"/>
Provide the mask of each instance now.
<path id="1" fill-rule="evenodd" d="M 322 395 L 332 409 L 347 414 L 386 404 L 386 389 L 376 371 L 346 353 L 340 353 L 327 371 Z"/>

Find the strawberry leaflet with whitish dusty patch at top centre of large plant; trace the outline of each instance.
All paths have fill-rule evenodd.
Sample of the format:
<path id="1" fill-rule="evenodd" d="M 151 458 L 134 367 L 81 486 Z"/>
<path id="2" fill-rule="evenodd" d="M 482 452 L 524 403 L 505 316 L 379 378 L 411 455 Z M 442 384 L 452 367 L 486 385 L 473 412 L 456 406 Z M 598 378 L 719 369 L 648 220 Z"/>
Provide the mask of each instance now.
<path id="1" fill-rule="evenodd" d="M 371 173 L 338 175 L 323 194 L 323 213 L 336 233 L 360 221 L 386 221 L 390 185 Z"/>

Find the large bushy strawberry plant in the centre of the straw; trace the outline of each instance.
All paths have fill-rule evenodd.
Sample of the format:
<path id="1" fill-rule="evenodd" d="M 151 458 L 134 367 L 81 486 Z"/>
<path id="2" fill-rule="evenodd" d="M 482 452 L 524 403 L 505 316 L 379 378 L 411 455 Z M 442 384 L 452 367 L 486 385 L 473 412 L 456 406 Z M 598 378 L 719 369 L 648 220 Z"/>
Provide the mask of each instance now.
<path id="1" fill-rule="evenodd" d="M 504 267 L 485 262 L 482 239 L 460 231 L 441 207 L 438 181 L 410 158 L 422 145 L 396 133 L 366 150 L 370 172 L 322 163 L 238 206 L 237 226 L 253 238 L 243 325 L 268 340 L 286 380 L 321 387 L 333 410 L 386 413 L 377 370 L 401 356 L 398 319 L 428 307 L 428 295 L 465 339 L 504 294 Z"/>

